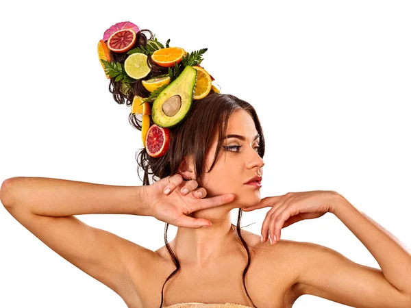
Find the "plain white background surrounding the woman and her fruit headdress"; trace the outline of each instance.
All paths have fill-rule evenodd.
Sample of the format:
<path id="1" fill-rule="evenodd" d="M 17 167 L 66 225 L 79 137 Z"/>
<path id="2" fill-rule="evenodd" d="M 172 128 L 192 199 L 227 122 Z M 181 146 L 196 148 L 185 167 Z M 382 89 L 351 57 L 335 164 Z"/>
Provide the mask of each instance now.
<path id="1" fill-rule="evenodd" d="M 262 197 L 335 190 L 411 246 L 409 1 L 8 1 L 0 16 L 0 181 L 142 184 L 140 131 L 97 58 L 105 29 L 132 21 L 163 44 L 207 47 L 202 65 L 221 91 L 255 106 L 266 137 Z M 260 234 L 266 211 L 244 213 L 242 226 Z M 77 217 L 153 250 L 164 245 L 155 218 Z M 332 214 L 282 238 L 379 268 Z M 126 307 L 3 207 L 0 241 L 0 307 Z M 306 295 L 294 307 L 345 306 Z"/>

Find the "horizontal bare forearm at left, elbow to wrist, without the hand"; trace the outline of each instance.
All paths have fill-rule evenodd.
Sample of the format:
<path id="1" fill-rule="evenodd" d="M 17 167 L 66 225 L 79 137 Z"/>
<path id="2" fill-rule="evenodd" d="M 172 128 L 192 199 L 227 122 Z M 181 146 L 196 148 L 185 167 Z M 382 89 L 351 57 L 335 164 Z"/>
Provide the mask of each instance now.
<path id="1" fill-rule="evenodd" d="M 3 183 L 0 198 L 5 207 L 16 205 L 42 216 L 151 216 L 144 199 L 145 189 L 47 177 L 13 177 Z"/>

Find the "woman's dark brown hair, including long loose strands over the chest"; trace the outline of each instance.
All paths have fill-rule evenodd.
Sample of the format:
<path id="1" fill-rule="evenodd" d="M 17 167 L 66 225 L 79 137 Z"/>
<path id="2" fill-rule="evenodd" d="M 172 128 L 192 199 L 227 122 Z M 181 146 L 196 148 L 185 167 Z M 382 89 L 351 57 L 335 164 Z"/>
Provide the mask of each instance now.
<path id="1" fill-rule="evenodd" d="M 142 43 L 144 44 L 145 42 Z M 123 59 L 123 61 L 124 60 L 125 59 Z M 147 76 L 147 78 L 145 79 L 149 78 L 152 77 Z M 136 84 L 138 83 L 141 82 L 137 81 Z M 114 100 L 117 103 L 124 103 L 125 101 L 126 105 L 131 105 L 134 95 L 139 95 L 140 97 L 147 97 L 149 94 L 148 92 L 145 93 L 144 91 L 142 91 L 142 87 L 137 86 L 136 84 L 134 84 L 131 87 L 131 90 L 128 94 L 124 94 L 121 91 L 121 81 L 114 81 L 114 79 L 111 79 L 109 90 L 110 92 L 112 92 Z M 235 97 L 234 95 L 220 94 L 211 91 L 207 97 L 192 101 L 188 115 L 176 127 L 172 127 L 170 129 L 171 136 L 169 150 L 166 152 L 164 156 L 155 158 L 149 156 L 145 148 L 142 148 L 140 150 L 140 153 L 138 153 L 138 157 L 136 157 L 136 160 L 138 163 L 138 177 L 140 179 L 141 177 L 139 169 L 141 168 L 144 171 L 142 185 L 150 185 L 154 181 L 158 181 L 159 179 L 163 179 L 164 177 L 174 175 L 175 173 L 177 173 L 179 165 L 182 163 L 184 157 L 192 155 L 195 164 L 195 179 L 197 183 L 199 183 L 199 187 L 203 187 L 203 163 L 205 161 L 206 153 L 208 149 L 210 149 L 210 147 L 212 146 L 212 142 L 215 136 L 218 134 L 218 144 L 216 147 L 216 153 L 214 155 L 214 161 L 210 166 L 210 170 L 207 171 L 210 172 L 214 167 L 216 160 L 219 158 L 219 154 L 221 153 L 225 133 L 227 131 L 229 116 L 231 116 L 231 114 L 236 110 L 245 110 L 253 118 L 253 121 L 256 125 L 256 130 L 260 134 L 260 147 L 258 148 L 258 154 L 260 155 L 260 157 L 264 157 L 264 134 L 262 131 L 262 127 L 260 125 L 260 120 L 258 119 L 256 110 L 253 108 L 253 106 L 247 103 L 246 101 L 238 99 L 238 97 Z M 150 125 L 153 125 L 151 117 L 150 122 Z M 134 128 L 141 131 L 141 114 L 130 113 L 129 123 Z M 151 175 L 151 183 L 149 180 L 149 175 Z M 245 286 L 245 274 L 247 274 L 251 258 L 249 247 L 247 246 L 245 240 L 242 238 L 240 232 L 241 217 L 242 209 L 240 208 L 238 209 L 236 231 L 238 238 L 242 243 L 242 246 L 244 246 L 245 250 L 247 251 L 248 259 L 247 265 L 245 266 L 245 269 L 242 272 L 242 283 L 245 287 L 245 292 L 248 298 L 251 300 L 249 293 L 247 292 L 247 287 Z M 234 224 L 232 224 L 232 227 L 235 227 Z M 171 248 L 167 240 L 168 229 L 169 224 L 166 223 L 164 228 L 164 242 L 166 244 L 167 251 L 169 251 L 171 258 L 173 259 L 176 269 L 169 275 L 169 277 L 167 277 L 166 281 L 164 281 L 164 284 L 162 286 L 160 308 L 162 307 L 162 303 L 164 300 L 164 285 L 167 281 L 169 281 L 169 279 L 171 279 L 171 277 L 177 274 L 180 268 L 179 260 L 177 259 L 177 256 L 173 252 L 173 249 Z M 251 300 L 251 303 L 253 303 L 253 300 Z M 253 307 L 256 307 L 254 303 Z"/>

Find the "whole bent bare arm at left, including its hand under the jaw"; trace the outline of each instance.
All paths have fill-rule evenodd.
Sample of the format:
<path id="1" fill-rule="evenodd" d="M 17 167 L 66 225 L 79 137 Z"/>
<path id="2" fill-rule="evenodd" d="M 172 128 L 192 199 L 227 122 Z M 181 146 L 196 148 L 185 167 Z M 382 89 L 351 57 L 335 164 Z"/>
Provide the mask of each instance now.
<path id="1" fill-rule="evenodd" d="M 180 186 L 188 188 L 189 192 L 200 190 L 203 196 L 196 197 L 192 193 L 182 196 Z M 164 195 L 166 187 L 173 193 Z M 133 305 L 140 300 L 136 288 L 145 283 L 139 280 L 139 271 L 153 264 L 156 254 L 113 233 L 91 227 L 74 215 L 153 216 L 164 222 L 198 228 L 208 220 L 185 214 L 223 205 L 234 198 L 234 194 L 205 196 L 206 190 L 197 188 L 197 181 L 183 183 L 178 173 L 147 186 L 14 177 L 4 181 L 0 189 L 1 203 L 23 227 L 55 253 Z"/>

